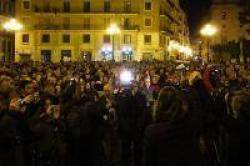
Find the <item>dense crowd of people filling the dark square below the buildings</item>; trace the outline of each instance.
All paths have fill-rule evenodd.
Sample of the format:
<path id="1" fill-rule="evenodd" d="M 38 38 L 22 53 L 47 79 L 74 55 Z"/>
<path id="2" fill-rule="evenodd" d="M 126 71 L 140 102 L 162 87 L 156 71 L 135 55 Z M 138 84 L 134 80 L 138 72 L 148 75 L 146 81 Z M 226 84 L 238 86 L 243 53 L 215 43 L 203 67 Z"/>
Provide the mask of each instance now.
<path id="1" fill-rule="evenodd" d="M 248 163 L 249 64 L 0 65 L 0 165 Z"/>

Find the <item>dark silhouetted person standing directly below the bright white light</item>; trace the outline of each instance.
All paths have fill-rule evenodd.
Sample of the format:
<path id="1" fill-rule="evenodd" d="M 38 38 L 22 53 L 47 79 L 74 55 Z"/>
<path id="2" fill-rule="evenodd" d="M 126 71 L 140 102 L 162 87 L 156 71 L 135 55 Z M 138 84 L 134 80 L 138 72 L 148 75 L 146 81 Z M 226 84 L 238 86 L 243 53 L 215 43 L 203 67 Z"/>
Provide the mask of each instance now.
<path id="1" fill-rule="evenodd" d="M 146 97 L 139 91 L 136 83 L 130 89 L 118 94 L 117 115 L 118 130 L 122 142 L 122 166 L 129 165 L 132 154 L 133 164 L 142 165 L 146 107 Z"/>

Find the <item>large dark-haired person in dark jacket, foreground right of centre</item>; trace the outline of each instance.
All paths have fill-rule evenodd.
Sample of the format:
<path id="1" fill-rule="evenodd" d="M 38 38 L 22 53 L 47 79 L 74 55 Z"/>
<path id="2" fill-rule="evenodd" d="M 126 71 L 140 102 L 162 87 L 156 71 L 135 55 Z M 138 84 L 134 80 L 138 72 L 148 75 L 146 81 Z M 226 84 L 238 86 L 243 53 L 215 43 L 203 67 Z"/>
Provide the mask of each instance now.
<path id="1" fill-rule="evenodd" d="M 160 91 L 156 123 L 145 131 L 145 166 L 203 165 L 199 128 L 186 98 L 173 87 Z"/>

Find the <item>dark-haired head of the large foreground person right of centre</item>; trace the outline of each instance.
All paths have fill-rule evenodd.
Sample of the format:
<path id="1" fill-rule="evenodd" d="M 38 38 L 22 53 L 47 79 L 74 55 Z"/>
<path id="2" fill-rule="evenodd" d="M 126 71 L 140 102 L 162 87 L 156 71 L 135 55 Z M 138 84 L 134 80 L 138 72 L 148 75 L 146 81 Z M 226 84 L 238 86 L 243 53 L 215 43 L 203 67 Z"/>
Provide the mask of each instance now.
<path id="1" fill-rule="evenodd" d="M 188 101 L 182 92 L 173 87 L 165 87 L 158 96 L 156 121 L 172 123 L 183 120 L 188 113 L 188 109 Z"/>

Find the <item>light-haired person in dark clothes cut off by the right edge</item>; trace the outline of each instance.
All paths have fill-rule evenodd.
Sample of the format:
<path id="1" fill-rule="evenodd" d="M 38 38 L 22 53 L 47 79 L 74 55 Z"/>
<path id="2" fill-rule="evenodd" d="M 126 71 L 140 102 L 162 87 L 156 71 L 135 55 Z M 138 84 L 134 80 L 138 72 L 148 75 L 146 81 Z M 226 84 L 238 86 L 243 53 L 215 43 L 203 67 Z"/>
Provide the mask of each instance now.
<path id="1" fill-rule="evenodd" d="M 237 91 L 227 100 L 230 114 L 225 122 L 227 131 L 227 165 L 245 165 L 249 162 L 250 148 L 250 93 Z"/>

